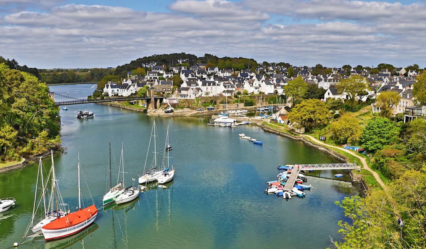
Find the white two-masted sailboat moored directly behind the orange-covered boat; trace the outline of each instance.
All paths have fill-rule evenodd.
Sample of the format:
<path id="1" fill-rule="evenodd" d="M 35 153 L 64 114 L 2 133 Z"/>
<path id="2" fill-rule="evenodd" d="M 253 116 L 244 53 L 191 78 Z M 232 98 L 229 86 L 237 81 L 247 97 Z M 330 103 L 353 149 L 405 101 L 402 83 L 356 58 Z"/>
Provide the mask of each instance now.
<path id="1" fill-rule="evenodd" d="M 51 150 L 50 153 L 52 156 L 52 167 L 47 176 L 48 178 L 52 176 L 52 183 L 51 183 L 52 191 L 50 195 L 50 200 L 49 200 L 49 203 L 46 205 L 45 192 L 47 189 L 47 181 L 45 184 L 43 180 L 43 166 L 42 166 L 41 157 L 40 157 L 39 164 L 38 164 L 38 171 L 37 171 L 37 182 L 35 185 L 35 197 L 34 197 L 34 206 L 32 210 L 32 217 L 31 217 L 31 222 L 29 223 L 26 229 L 24 238 L 29 236 L 37 236 L 38 232 L 41 231 L 41 228 L 43 226 L 45 226 L 46 224 L 49 224 L 50 222 L 57 219 L 58 217 L 59 218 L 63 217 L 64 215 L 66 215 L 66 213 L 69 212 L 69 211 L 64 212 L 63 209 L 59 208 L 59 206 L 62 206 L 63 208 L 65 208 L 67 204 L 63 203 L 62 196 L 60 195 L 60 192 L 59 192 L 58 180 L 56 180 L 56 174 L 55 174 L 55 163 L 53 161 L 53 150 Z M 40 199 L 37 201 L 37 189 L 38 189 L 39 178 L 41 182 L 41 195 L 40 195 Z M 44 209 L 42 210 L 43 213 L 41 215 L 40 221 L 34 225 L 34 223 L 36 222 L 35 218 L 37 215 L 37 210 L 41 202 L 43 202 L 43 207 L 44 207 Z M 36 203 L 38 203 L 38 206 L 36 206 Z M 49 210 L 49 206 L 51 207 L 50 210 Z M 29 229 L 31 229 L 32 234 L 29 234 Z"/>

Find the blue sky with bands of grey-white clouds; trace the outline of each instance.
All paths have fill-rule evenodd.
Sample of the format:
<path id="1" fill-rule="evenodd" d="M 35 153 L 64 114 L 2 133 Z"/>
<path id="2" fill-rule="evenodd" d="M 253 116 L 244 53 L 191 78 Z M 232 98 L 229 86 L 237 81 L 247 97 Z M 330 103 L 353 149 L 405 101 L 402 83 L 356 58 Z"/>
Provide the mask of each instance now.
<path id="1" fill-rule="evenodd" d="M 0 0 L 0 55 L 44 69 L 175 52 L 423 68 L 425 13 L 425 0 Z"/>

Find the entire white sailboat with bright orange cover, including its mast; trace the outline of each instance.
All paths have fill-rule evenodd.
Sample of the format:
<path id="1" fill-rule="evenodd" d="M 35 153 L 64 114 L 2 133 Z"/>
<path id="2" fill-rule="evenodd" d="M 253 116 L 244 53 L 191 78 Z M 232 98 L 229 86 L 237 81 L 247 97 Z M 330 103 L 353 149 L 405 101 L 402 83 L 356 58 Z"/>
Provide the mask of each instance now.
<path id="1" fill-rule="evenodd" d="M 41 228 L 45 240 L 54 240 L 77 232 L 88 227 L 98 215 L 98 209 L 95 204 L 81 209 L 81 191 L 80 191 L 80 158 L 78 158 L 78 210 L 61 218 L 57 217 L 52 222 Z M 58 210 L 57 210 L 58 212 Z"/>

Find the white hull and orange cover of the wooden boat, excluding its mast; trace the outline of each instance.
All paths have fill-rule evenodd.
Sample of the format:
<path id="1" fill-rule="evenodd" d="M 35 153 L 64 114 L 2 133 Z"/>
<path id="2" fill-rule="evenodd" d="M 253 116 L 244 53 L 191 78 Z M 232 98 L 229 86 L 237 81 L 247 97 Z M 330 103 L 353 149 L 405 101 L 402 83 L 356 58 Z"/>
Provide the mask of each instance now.
<path id="1" fill-rule="evenodd" d="M 90 211 L 91 209 L 94 209 L 95 211 L 91 212 Z M 56 223 L 66 224 L 66 219 L 68 218 L 67 216 L 70 216 L 69 220 L 71 220 L 72 222 L 72 220 L 75 220 L 73 217 L 77 216 L 76 213 L 79 213 L 78 215 L 83 215 L 83 213 L 86 214 L 86 219 L 76 224 L 72 224 L 71 226 L 65 226 L 65 225 L 60 225 L 58 227 L 50 226 L 50 224 L 52 223 L 55 223 L 55 225 Z M 90 217 L 87 217 L 87 215 L 89 215 Z M 46 225 L 49 227 L 43 226 L 41 231 L 43 232 L 43 236 L 45 240 L 56 240 L 60 238 L 65 238 L 70 235 L 76 234 L 82 231 L 83 229 L 85 229 L 86 227 L 88 227 L 90 224 L 93 223 L 93 221 L 96 218 L 96 215 L 98 215 L 98 209 L 96 209 L 95 205 L 92 205 L 86 209 L 76 211 L 62 218 L 59 218 L 58 220 L 52 221 L 51 223 Z M 71 222 L 68 222 L 68 223 L 71 223 Z"/>

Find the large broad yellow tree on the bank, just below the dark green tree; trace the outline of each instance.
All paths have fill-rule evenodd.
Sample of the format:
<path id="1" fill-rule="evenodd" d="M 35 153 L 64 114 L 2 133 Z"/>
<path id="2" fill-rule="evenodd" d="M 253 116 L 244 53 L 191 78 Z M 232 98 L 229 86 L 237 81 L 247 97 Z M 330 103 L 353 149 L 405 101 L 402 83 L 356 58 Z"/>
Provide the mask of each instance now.
<path id="1" fill-rule="evenodd" d="M 327 105 L 317 99 L 303 100 L 291 109 L 288 120 L 296 123 L 297 128 L 313 129 L 327 124 L 329 115 Z"/>

